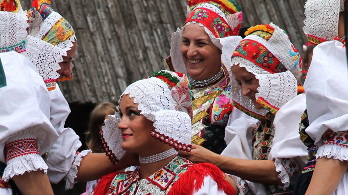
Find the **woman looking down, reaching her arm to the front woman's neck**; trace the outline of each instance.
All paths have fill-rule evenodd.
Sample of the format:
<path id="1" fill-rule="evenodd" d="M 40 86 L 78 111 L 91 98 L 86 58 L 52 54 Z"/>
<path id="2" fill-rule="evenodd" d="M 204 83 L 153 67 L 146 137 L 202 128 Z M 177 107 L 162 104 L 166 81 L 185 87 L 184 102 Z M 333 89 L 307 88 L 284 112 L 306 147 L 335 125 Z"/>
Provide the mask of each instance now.
<path id="1" fill-rule="evenodd" d="M 246 35 L 230 52 L 232 101 L 259 121 L 251 129 L 240 126 L 243 118 L 233 121 L 221 155 L 195 146 L 188 159 L 211 162 L 234 175 L 240 194 L 289 193 L 307 154 L 298 138 L 306 106 L 304 95 L 296 96 L 301 57 L 273 23 L 251 27 Z"/>

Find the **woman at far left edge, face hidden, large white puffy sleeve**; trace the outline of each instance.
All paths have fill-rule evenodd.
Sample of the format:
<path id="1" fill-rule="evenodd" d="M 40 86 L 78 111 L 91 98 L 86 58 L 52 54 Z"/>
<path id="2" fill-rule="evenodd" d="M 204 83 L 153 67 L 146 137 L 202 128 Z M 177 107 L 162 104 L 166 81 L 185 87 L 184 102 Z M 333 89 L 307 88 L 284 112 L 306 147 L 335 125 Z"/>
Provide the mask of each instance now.
<path id="1" fill-rule="evenodd" d="M 26 194 L 53 195 L 44 174 L 48 167 L 40 155 L 49 150 L 58 134 L 50 123 L 50 98 L 43 79 L 59 69 L 56 61 L 62 59 L 62 53 L 27 36 L 27 17 L 20 13 L 20 6 L 11 9 L 6 0 L 0 6 L 4 10 L 0 11 L 0 58 L 6 76 L 6 86 L 0 89 L 0 194 L 16 194 L 15 184 Z M 40 52 L 46 52 L 45 58 Z M 14 183 L 9 185 L 9 179 Z"/>

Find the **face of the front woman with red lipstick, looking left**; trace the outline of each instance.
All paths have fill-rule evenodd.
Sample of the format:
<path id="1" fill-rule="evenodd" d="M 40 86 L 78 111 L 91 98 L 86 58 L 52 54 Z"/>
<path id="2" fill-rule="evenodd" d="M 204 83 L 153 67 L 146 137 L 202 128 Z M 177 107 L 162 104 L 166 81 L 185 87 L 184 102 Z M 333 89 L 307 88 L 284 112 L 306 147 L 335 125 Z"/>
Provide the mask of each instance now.
<path id="1" fill-rule="evenodd" d="M 160 141 L 151 136 L 151 131 L 155 129 L 153 122 L 140 114 L 138 104 L 135 104 L 133 99 L 128 95 L 122 96 L 119 107 L 121 121 L 118 128 L 122 134 L 122 148 L 140 155 L 144 150 L 149 150 L 153 143 Z"/>

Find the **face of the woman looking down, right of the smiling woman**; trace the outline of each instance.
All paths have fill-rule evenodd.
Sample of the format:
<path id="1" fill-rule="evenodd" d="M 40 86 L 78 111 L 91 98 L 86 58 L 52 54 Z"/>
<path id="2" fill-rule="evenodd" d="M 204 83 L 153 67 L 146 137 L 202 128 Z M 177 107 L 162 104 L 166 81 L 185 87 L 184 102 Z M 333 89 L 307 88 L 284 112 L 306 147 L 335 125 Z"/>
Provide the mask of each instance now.
<path id="1" fill-rule="evenodd" d="M 256 109 L 263 109 L 259 103 L 256 102 L 255 95 L 258 93 L 259 80 L 255 78 L 255 75 L 248 72 L 244 67 L 240 67 L 239 64 L 235 64 L 231 67 L 233 76 L 237 83 L 242 88 L 243 96 L 246 96 L 252 100 Z"/>

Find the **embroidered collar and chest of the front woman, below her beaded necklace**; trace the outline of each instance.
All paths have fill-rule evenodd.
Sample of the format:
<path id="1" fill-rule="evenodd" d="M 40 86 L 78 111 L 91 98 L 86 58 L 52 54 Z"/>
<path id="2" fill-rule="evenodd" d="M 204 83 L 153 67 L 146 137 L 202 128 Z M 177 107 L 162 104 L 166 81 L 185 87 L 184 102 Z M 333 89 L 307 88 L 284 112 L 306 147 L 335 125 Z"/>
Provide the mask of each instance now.
<path id="1" fill-rule="evenodd" d="M 166 195 L 190 166 L 190 161 L 176 156 L 145 179 L 140 179 L 139 167 L 133 172 L 122 172 L 113 179 L 107 195 Z"/>

